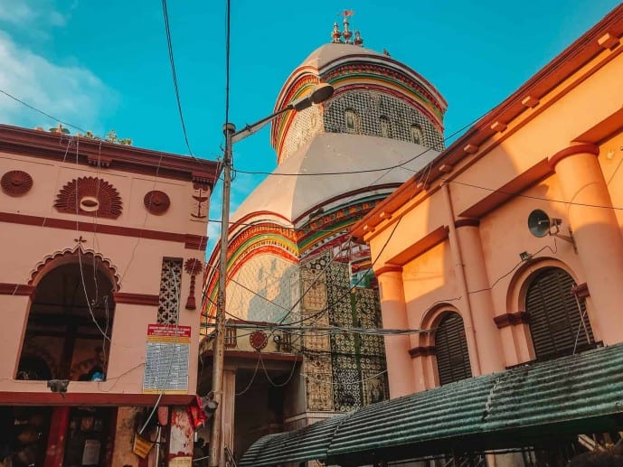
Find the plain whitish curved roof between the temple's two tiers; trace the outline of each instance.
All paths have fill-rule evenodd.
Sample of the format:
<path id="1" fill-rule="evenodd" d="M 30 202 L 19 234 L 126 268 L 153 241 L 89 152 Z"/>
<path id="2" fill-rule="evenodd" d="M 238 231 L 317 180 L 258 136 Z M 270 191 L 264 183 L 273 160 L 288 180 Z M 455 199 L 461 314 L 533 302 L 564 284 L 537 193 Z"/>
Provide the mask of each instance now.
<path id="1" fill-rule="evenodd" d="M 254 212 L 266 215 L 269 211 L 298 224 L 297 219 L 325 201 L 335 199 L 336 202 L 345 202 L 352 198 L 348 193 L 353 191 L 374 191 L 377 185 L 404 182 L 437 154 L 438 151 L 407 141 L 388 141 L 369 135 L 321 133 L 279 164 L 242 202 L 232 221 Z M 410 159 L 413 160 L 405 163 Z M 404 167 L 391 171 L 363 172 L 401 163 L 405 163 Z M 306 175 L 327 172 L 342 174 Z M 395 186 L 380 190 L 389 193 L 394 189 Z M 340 199 L 341 195 L 344 196 Z M 358 197 L 361 196 L 360 193 Z"/>

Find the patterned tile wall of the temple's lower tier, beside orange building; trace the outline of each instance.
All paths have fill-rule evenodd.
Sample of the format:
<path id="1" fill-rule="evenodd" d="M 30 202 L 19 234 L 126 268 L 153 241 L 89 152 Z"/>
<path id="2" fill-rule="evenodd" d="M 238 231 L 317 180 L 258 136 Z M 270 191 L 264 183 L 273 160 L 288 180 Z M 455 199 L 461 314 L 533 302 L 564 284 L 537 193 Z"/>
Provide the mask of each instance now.
<path id="1" fill-rule="evenodd" d="M 332 252 L 301 265 L 303 318 L 307 325 L 380 328 L 375 290 L 350 289 L 347 262 L 331 261 Z M 356 332 L 306 332 L 304 341 L 307 409 L 347 412 L 389 397 L 382 336 Z M 325 378 L 323 380 L 323 378 Z"/>

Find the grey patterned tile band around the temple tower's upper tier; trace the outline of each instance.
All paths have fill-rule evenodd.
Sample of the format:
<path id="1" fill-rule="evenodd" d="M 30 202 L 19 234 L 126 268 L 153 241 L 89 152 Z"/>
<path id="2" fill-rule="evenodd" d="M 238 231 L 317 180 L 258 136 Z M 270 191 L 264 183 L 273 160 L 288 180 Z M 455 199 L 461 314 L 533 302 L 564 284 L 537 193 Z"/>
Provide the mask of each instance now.
<path id="1" fill-rule="evenodd" d="M 354 112 L 354 124 L 347 118 Z M 420 126 L 420 143 L 437 151 L 444 147 L 443 136 L 429 118 L 399 98 L 375 91 L 351 91 L 331 99 L 325 106 L 327 133 L 356 133 L 411 141 L 411 127 Z"/>

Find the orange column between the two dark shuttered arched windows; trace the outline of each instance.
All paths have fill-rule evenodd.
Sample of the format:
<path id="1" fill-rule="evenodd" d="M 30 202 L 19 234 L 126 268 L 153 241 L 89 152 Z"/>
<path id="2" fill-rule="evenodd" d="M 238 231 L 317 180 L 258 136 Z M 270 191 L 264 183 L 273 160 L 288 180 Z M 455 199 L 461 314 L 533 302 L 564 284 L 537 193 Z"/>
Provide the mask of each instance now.
<path id="1" fill-rule="evenodd" d="M 458 219 L 458 248 L 461 249 L 469 307 L 476 336 L 480 371 L 486 375 L 505 369 L 504 350 L 496 322 L 489 278 L 486 274 L 485 254 L 480 240 L 477 219 Z"/>

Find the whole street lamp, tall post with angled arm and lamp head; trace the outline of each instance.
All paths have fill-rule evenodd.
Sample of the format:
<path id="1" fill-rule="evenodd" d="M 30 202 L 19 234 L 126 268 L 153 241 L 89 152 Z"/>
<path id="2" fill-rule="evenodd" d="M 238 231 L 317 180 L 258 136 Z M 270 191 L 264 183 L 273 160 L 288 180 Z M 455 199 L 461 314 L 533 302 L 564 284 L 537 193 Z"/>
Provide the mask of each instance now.
<path id="1" fill-rule="evenodd" d="M 305 98 L 300 98 L 283 107 L 269 117 L 262 118 L 258 122 L 247 125 L 240 131 L 236 126 L 226 122 L 223 126 L 225 134 L 225 154 L 223 154 L 223 180 L 222 180 L 222 216 L 221 216 L 221 259 L 219 265 L 219 293 L 216 302 L 215 338 L 212 352 L 212 391 L 214 401 L 217 403 L 216 412 L 212 418 L 212 433 L 210 434 L 210 467 L 217 467 L 221 462 L 222 444 L 222 374 L 225 360 L 225 279 L 227 275 L 227 240 L 230 225 L 230 191 L 231 191 L 231 145 L 241 139 L 252 135 L 262 126 L 268 124 L 273 118 L 294 110 L 300 112 L 307 107 L 321 104 L 333 96 L 334 88 L 330 84 L 321 83 L 316 85 L 312 92 Z"/>

